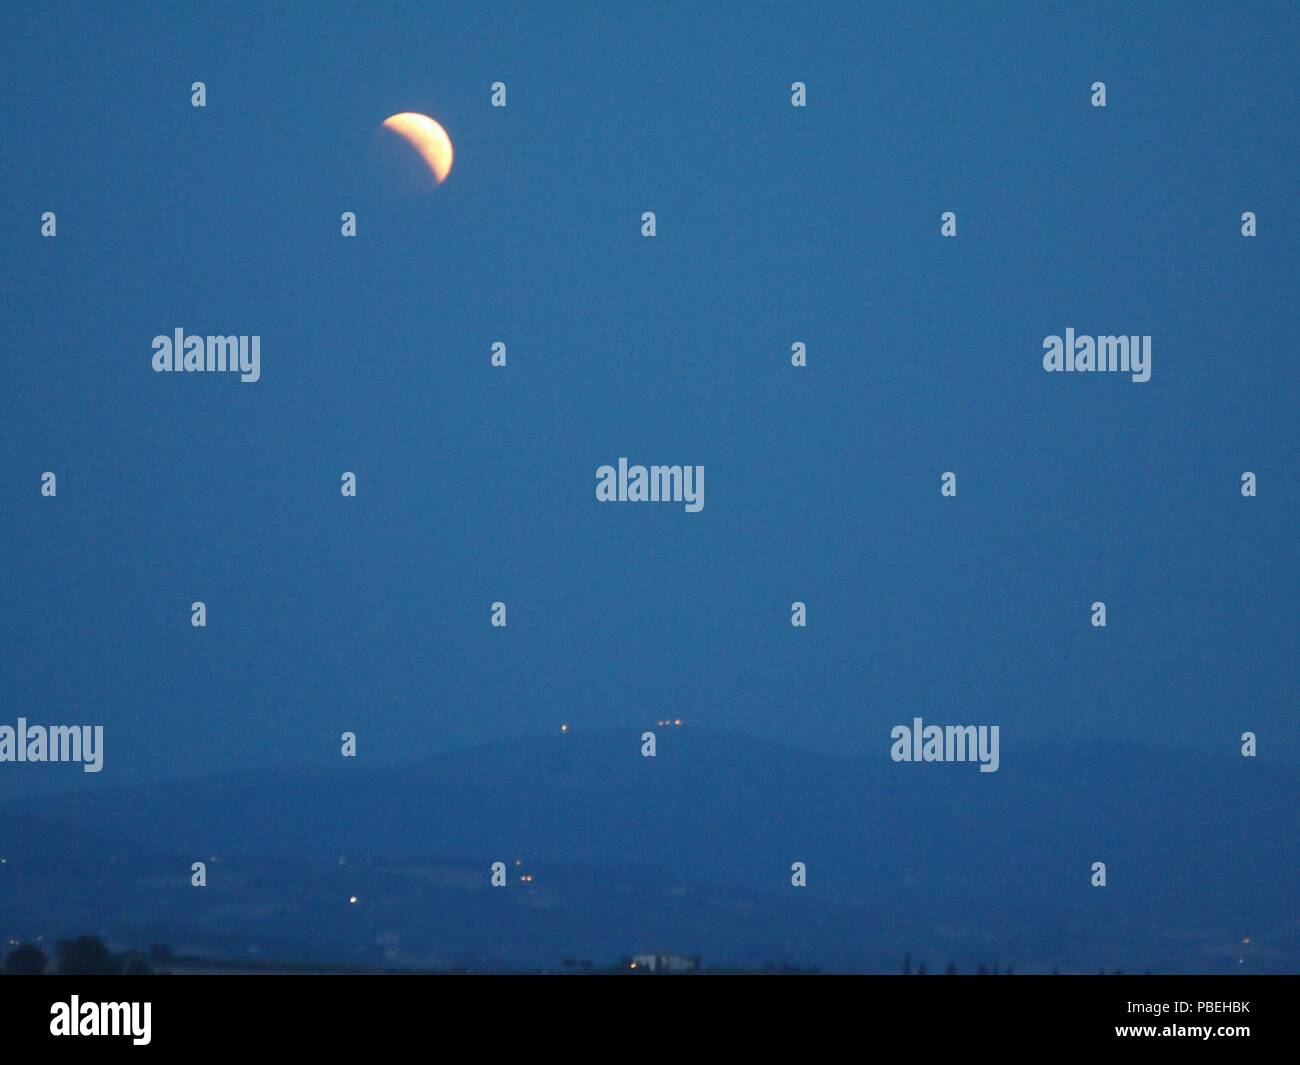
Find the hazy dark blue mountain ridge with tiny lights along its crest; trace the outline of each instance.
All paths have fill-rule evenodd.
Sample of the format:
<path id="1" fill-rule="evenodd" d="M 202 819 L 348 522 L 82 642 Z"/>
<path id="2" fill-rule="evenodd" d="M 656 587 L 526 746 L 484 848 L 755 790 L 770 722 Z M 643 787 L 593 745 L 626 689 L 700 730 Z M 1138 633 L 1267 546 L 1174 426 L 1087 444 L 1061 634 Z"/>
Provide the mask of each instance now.
<path id="1" fill-rule="evenodd" d="M 838 758 L 689 726 L 656 732 L 654 758 L 641 756 L 638 732 L 571 732 L 398 769 L 348 762 L 5 802 L 0 853 L 21 857 L 38 880 L 66 876 L 84 853 L 86 883 L 104 862 L 156 860 L 151 875 L 183 884 L 169 918 L 182 923 L 186 908 L 204 905 L 203 891 L 228 892 L 221 878 L 239 867 L 300 867 L 313 883 L 328 882 L 341 860 L 344 870 L 407 870 L 391 873 L 400 883 L 413 882 L 410 870 L 452 870 L 443 879 L 467 892 L 458 896 L 468 908 L 460 923 L 481 932 L 458 949 L 494 964 L 552 961 L 529 943 L 541 951 L 554 913 L 573 905 L 592 919 L 604 914 L 601 928 L 575 917 L 601 943 L 627 939 L 630 949 L 620 927 L 671 913 L 660 938 L 697 927 L 715 951 L 733 945 L 732 961 L 757 960 L 748 906 L 766 914 L 764 957 L 775 962 L 879 964 L 866 944 L 881 928 L 918 949 L 946 928 L 967 947 L 1023 936 L 1018 958 L 1001 949 L 1023 967 L 1030 954 L 1057 964 L 1035 943 L 1060 953 L 1067 943 L 1112 944 L 1124 930 L 1134 945 L 1150 941 L 1109 967 L 1153 967 L 1161 951 L 1161 965 L 1192 964 L 1193 948 L 1179 943 L 1201 951 L 1213 941 L 1226 956 L 1244 938 L 1260 964 L 1297 967 L 1297 772 L 1130 744 L 1020 746 L 1004 737 L 1001 769 L 980 774 L 974 763 Z M 78 843 L 69 849 L 58 839 Z M 211 886 L 190 888 L 188 862 L 213 856 Z M 507 862 L 508 888 L 488 886 L 494 861 Z M 806 888 L 790 886 L 794 861 L 807 866 Z M 1106 862 L 1105 888 L 1089 883 L 1095 861 Z M 534 880 L 515 879 L 519 869 L 536 870 Z M 292 879 L 250 882 L 230 904 L 256 910 L 265 891 L 291 906 L 281 896 L 291 896 Z M 433 893 L 445 888 L 439 882 Z M 83 895 L 77 905 L 94 913 L 94 891 Z M 502 895 L 533 919 L 523 922 L 520 945 L 494 953 L 504 940 L 484 921 Z M 402 897 L 411 906 L 420 895 Z M 690 899 L 710 902 L 688 913 Z M 863 922 L 858 949 L 853 928 Z M 439 932 L 428 934 L 433 949 Z"/>

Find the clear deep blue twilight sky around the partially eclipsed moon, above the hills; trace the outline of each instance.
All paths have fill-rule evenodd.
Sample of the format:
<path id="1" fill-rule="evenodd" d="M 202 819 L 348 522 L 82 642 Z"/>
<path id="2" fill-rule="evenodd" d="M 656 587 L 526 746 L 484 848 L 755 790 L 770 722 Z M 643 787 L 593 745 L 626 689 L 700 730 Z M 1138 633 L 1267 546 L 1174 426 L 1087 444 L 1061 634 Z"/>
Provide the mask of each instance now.
<path id="1" fill-rule="evenodd" d="M 104 724 L 112 783 L 663 715 L 1300 762 L 1297 30 L 5 5 L 0 723 Z M 1152 380 L 1044 373 L 1067 326 L 1150 334 Z M 259 334 L 261 380 L 155 375 L 176 328 Z M 702 464 L 705 510 L 598 503 L 620 455 Z"/>

